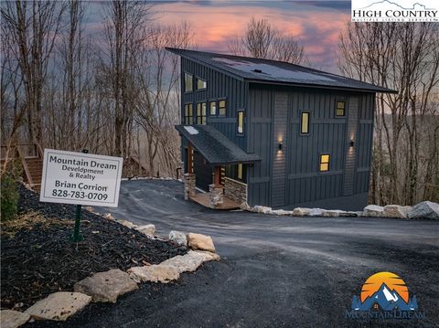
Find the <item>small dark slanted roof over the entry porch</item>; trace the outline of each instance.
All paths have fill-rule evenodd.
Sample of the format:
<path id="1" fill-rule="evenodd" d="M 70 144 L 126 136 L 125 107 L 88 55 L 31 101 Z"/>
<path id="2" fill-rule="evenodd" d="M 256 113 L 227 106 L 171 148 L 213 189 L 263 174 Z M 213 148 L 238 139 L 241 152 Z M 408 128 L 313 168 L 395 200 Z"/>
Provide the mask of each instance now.
<path id="1" fill-rule="evenodd" d="M 245 153 L 211 125 L 176 125 L 176 129 L 203 155 L 209 164 L 238 164 L 261 161 L 256 153 Z"/>

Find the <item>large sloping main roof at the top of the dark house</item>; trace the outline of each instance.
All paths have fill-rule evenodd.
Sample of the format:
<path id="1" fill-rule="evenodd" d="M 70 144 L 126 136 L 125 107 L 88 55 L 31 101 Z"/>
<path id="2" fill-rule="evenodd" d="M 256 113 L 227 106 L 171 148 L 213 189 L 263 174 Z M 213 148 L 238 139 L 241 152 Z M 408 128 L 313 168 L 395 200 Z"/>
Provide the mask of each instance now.
<path id="1" fill-rule="evenodd" d="M 397 93 L 357 79 L 327 73 L 322 70 L 308 69 L 304 66 L 262 58 L 249 58 L 195 51 L 178 48 L 167 50 L 191 60 L 198 61 L 212 69 L 231 74 L 237 79 L 252 83 L 286 84 L 301 87 L 320 87 L 329 89 L 358 90 L 365 92 Z"/>

